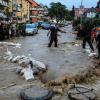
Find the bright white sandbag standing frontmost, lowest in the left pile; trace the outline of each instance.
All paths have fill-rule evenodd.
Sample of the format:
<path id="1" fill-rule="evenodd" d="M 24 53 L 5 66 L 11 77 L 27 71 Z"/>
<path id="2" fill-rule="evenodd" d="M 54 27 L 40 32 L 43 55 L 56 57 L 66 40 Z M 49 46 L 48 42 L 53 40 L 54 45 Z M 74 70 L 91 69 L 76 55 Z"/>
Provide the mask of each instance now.
<path id="1" fill-rule="evenodd" d="M 22 69 L 21 73 L 24 73 L 23 76 L 27 81 L 34 79 L 33 71 L 30 67 L 26 67 L 26 68 Z"/>

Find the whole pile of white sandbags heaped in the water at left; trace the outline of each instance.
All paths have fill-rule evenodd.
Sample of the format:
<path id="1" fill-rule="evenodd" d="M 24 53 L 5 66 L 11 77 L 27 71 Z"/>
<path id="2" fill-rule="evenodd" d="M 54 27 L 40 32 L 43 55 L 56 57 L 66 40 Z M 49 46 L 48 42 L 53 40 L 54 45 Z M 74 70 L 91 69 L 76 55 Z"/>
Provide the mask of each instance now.
<path id="1" fill-rule="evenodd" d="M 23 75 L 26 80 L 32 80 L 34 79 L 34 74 L 38 74 L 40 71 L 44 72 L 47 70 L 47 67 L 44 63 L 37 61 L 32 57 L 26 57 L 23 55 L 14 57 L 9 50 L 7 50 L 5 54 L 6 57 L 4 57 L 4 59 L 12 63 L 17 63 L 18 68 L 16 69 L 16 72 L 20 75 Z"/>

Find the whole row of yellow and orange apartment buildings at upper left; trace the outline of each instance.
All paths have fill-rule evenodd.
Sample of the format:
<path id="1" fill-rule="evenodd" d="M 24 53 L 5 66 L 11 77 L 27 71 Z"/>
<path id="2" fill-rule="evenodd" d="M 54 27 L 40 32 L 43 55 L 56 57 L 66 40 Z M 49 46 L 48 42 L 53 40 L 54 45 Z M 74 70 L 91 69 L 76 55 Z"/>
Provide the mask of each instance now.
<path id="1" fill-rule="evenodd" d="M 34 0 L 0 0 L 0 16 L 24 23 L 48 19 L 48 9 Z"/>

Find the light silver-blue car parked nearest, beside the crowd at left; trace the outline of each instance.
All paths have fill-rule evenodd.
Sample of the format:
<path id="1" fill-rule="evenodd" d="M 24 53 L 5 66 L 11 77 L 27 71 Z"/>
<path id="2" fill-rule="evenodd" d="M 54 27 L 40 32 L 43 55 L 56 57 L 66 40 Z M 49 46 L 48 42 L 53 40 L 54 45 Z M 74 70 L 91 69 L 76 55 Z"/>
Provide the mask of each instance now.
<path id="1" fill-rule="evenodd" d="M 25 29 L 26 35 L 34 35 L 38 33 L 38 28 L 36 27 L 35 24 L 26 24 L 26 29 Z"/>

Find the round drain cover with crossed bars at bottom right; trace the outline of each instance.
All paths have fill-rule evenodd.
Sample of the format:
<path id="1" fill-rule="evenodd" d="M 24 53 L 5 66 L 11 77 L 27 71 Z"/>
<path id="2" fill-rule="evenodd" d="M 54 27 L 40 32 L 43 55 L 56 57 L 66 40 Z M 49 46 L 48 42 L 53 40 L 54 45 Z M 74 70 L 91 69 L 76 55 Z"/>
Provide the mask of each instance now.
<path id="1" fill-rule="evenodd" d="M 93 89 L 82 85 L 74 85 L 69 89 L 68 97 L 71 100 L 95 100 L 95 93 Z"/>

